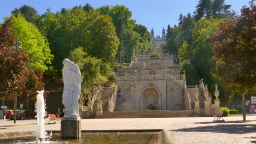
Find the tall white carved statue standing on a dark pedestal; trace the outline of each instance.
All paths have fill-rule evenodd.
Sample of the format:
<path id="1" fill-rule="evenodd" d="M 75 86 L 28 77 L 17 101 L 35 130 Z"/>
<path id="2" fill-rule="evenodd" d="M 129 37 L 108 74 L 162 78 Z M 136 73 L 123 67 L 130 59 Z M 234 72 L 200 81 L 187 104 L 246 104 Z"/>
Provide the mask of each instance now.
<path id="1" fill-rule="evenodd" d="M 78 100 L 81 93 L 81 72 L 77 64 L 65 58 L 63 60 L 63 82 L 64 89 L 62 94 L 62 103 L 65 106 L 63 112 L 64 118 L 79 118 L 79 104 Z"/>

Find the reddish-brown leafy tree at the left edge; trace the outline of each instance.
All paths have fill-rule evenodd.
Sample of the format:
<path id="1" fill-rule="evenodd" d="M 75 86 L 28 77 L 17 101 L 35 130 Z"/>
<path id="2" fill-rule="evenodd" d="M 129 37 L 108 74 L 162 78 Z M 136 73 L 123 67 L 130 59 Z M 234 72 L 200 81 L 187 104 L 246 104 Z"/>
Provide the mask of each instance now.
<path id="1" fill-rule="evenodd" d="M 29 57 L 22 49 L 13 49 L 14 44 L 12 19 L 5 20 L 0 28 L 0 99 L 13 99 L 23 103 L 28 99 L 35 99 L 38 90 L 42 90 L 42 71 L 27 67 Z M 5 37 L 8 35 L 8 37 Z M 4 44 L 4 45 L 3 45 Z"/>

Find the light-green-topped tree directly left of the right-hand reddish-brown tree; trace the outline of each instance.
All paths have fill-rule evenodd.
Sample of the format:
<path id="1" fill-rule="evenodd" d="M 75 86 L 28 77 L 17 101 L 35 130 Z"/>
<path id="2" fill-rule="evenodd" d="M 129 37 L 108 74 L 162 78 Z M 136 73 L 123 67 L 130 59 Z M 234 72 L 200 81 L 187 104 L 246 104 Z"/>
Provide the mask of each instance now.
<path id="1" fill-rule="evenodd" d="M 210 36 L 217 31 L 218 25 L 222 20 L 213 19 L 211 17 L 208 19 L 201 19 L 195 24 L 193 31 L 193 63 L 200 77 L 203 77 L 204 81 L 208 83 L 209 86 L 214 85 L 211 74 L 211 68 L 213 68 L 214 63 L 211 63 L 211 58 L 213 56 L 212 44 L 210 41 Z M 211 88 L 210 88 L 211 89 Z"/>

